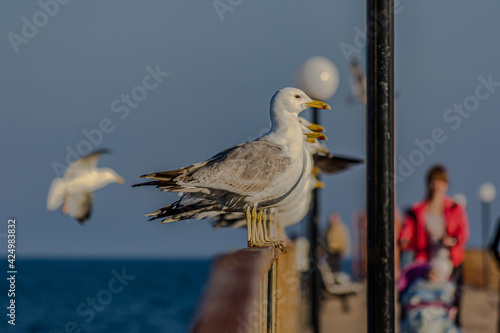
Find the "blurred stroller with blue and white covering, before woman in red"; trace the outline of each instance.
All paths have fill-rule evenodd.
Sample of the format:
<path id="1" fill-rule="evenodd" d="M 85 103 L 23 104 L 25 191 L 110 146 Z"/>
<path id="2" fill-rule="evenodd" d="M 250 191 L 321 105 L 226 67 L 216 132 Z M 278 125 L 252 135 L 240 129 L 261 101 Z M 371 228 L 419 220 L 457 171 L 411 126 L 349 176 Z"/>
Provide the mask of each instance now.
<path id="1" fill-rule="evenodd" d="M 456 285 L 449 278 L 451 266 L 446 268 L 446 265 L 438 259 L 431 263 L 410 263 L 403 269 L 397 285 L 401 333 L 459 332 L 452 320 L 456 309 L 451 306 Z M 436 270 L 442 271 L 441 278 L 435 276 Z"/>

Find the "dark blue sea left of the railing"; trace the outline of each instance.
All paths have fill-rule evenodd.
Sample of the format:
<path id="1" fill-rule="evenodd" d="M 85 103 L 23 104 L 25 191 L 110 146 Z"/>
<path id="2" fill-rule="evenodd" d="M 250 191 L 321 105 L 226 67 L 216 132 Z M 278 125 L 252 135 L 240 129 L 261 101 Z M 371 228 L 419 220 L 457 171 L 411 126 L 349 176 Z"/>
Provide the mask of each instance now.
<path id="1" fill-rule="evenodd" d="M 210 260 L 17 260 L 0 283 L 0 332 L 189 332 Z M 4 270 L 6 272 L 7 269 Z"/>

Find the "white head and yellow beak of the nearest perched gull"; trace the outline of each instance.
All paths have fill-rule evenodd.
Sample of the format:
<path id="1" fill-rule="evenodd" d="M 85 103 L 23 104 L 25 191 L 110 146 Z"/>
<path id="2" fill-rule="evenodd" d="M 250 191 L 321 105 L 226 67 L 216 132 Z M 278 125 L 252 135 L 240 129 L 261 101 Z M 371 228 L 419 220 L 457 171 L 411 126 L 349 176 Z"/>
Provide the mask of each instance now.
<path id="1" fill-rule="evenodd" d="M 282 110 L 285 113 L 298 115 L 308 108 L 331 110 L 325 102 L 315 101 L 297 88 L 283 88 L 278 90 L 271 99 L 271 110 Z"/>

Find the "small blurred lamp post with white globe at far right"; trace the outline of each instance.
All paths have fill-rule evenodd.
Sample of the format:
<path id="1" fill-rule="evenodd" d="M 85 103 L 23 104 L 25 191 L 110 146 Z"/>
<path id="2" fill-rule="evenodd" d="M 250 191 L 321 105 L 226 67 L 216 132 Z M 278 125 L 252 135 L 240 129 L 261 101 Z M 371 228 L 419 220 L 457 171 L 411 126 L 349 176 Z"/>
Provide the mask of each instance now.
<path id="1" fill-rule="evenodd" d="M 488 289 L 488 233 L 490 231 L 490 206 L 495 200 L 497 191 L 491 183 L 484 183 L 479 187 L 478 195 L 481 200 L 481 220 L 482 220 L 482 246 L 483 246 L 483 274 L 484 286 Z"/>

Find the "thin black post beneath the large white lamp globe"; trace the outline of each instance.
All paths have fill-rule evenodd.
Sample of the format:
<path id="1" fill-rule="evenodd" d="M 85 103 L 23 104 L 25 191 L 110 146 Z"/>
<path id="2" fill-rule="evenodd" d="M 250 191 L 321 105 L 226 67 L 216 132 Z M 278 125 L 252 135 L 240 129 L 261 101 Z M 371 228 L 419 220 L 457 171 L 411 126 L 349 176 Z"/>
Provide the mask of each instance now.
<path id="1" fill-rule="evenodd" d="M 318 109 L 313 108 L 313 123 L 319 125 Z M 319 176 L 318 176 L 319 180 Z M 311 214 L 309 215 L 309 258 L 310 261 L 310 321 L 313 333 L 319 333 L 320 286 L 321 277 L 318 269 L 318 237 L 319 237 L 319 188 L 312 191 Z"/>

